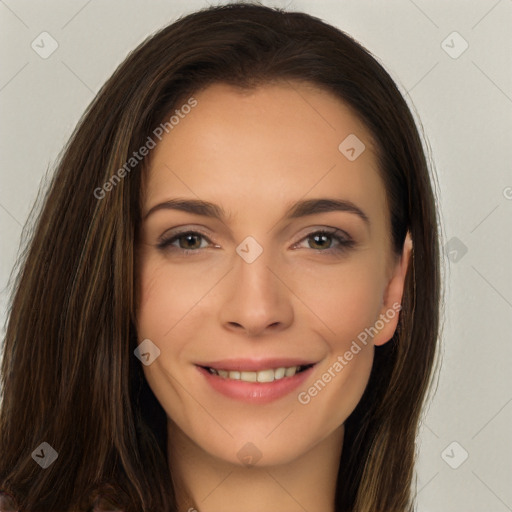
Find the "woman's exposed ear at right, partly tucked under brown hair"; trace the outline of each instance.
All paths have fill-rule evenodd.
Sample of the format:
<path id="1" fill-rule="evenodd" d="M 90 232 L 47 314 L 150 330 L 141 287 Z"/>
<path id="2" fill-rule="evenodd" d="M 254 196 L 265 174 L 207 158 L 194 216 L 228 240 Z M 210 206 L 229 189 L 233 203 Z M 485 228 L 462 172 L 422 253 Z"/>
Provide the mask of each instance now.
<path id="1" fill-rule="evenodd" d="M 375 328 L 378 333 L 373 339 L 373 344 L 376 346 L 387 343 L 396 331 L 399 311 L 402 309 L 401 304 L 404 293 L 405 276 L 409 268 L 412 250 L 412 239 L 410 233 L 407 232 L 402 255 L 396 259 L 391 269 L 391 275 L 384 290 L 379 318 L 375 321 Z"/>

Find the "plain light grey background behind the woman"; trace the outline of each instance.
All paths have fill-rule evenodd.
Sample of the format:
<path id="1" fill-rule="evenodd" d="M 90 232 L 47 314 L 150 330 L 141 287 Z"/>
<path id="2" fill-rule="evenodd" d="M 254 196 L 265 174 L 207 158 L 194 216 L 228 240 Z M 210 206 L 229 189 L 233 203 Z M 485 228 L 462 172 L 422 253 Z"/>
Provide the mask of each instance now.
<path id="1" fill-rule="evenodd" d="M 263 3 L 354 36 L 423 123 L 450 255 L 443 363 L 418 440 L 418 511 L 512 511 L 512 0 Z M 128 51 L 206 5 L 0 0 L 2 324 L 22 226 L 80 115 Z M 47 59 L 31 48 L 43 31 L 58 43 Z M 463 49 L 446 39 L 453 31 L 469 44 L 457 58 L 447 53 Z"/>

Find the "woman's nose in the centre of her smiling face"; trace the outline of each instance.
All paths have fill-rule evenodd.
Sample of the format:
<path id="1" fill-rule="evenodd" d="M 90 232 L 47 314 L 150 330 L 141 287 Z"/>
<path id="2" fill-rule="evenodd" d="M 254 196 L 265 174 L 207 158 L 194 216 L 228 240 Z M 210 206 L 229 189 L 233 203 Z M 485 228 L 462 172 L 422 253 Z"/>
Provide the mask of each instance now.
<path id="1" fill-rule="evenodd" d="M 248 336 L 276 333 L 293 322 L 291 292 L 269 251 L 252 263 L 235 258 L 219 307 L 222 326 Z"/>

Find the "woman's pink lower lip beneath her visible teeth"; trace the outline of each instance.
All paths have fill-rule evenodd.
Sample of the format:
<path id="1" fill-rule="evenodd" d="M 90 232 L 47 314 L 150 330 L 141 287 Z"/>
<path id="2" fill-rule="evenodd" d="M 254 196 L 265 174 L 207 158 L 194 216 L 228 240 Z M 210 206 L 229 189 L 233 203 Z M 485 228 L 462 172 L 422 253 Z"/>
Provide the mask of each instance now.
<path id="1" fill-rule="evenodd" d="M 245 382 L 213 375 L 201 366 L 196 366 L 215 391 L 235 400 L 257 404 L 266 404 L 291 393 L 311 375 L 314 367 L 273 382 Z"/>

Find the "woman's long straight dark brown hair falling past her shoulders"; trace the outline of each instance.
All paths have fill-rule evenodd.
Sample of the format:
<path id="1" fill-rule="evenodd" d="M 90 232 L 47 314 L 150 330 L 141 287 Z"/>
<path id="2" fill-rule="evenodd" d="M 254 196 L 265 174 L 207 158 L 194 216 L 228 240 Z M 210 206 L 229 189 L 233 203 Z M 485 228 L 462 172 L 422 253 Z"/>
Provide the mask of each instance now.
<path id="1" fill-rule="evenodd" d="M 20 510 L 91 510 L 99 495 L 125 511 L 177 510 L 166 415 L 133 355 L 148 158 L 131 170 L 126 162 L 183 98 L 214 82 L 275 80 L 313 83 L 352 107 L 377 142 L 397 254 L 411 234 L 398 328 L 375 349 L 367 389 L 346 421 L 335 503 L 336 511 L 412 510 L 440 302 L 438 221 L 421 138 L 393 80 L 350 36 L 304 13 L 252 4 L 190 14 L 144 41 L 63 152 L 19 261 L 3 348 L 0 488 Z M 46 469 L 31 455 L 42 442 L 58 452 Z"/>

